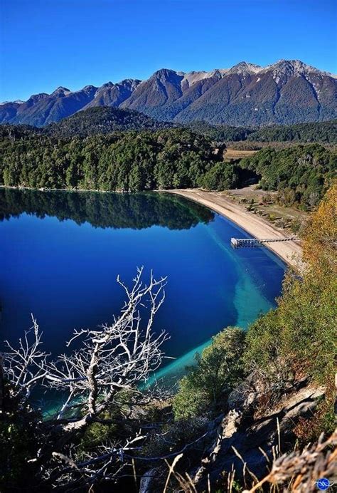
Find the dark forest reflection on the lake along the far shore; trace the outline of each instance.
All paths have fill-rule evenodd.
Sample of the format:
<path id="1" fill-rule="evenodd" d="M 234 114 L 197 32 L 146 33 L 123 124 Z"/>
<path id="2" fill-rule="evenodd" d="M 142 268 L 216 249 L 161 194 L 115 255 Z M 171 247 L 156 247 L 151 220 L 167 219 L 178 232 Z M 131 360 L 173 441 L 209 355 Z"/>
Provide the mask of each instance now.
<path id="1" fill-rule="evenodd" d="M 0 189 L 0 220 L 20 214 L 72 219 L 93 227 L 142 229 L 153 226 L 189 229 L 208 223 L 214 214 L 203 206 L 171 194 L 117 194 Z"/>

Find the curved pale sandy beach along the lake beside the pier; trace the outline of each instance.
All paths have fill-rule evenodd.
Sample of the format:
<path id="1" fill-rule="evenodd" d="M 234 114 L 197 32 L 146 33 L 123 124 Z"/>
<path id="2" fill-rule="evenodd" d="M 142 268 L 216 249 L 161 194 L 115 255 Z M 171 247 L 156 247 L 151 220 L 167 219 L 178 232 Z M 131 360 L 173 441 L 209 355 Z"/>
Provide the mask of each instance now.
<path id="1" fill-rule="evenodd" d="M 168 190 L 168 192 L 182 195 L 213 209 L 215 212 L 235 222 L 235 224 L 245 229 L 247 233 L 252 234 L 252 237 L 257 239 L 282 239 L 289 237 L 289 234 L 274 227 L 273 224 L 267 222 L 263 217 L 252 212 L 247 212 L 243 207 L 235 204 L 219 192 L 204 192 L 203 190 Z M 275 242 L 266 244 L 266 246 L 281 257 L 288 265 L 297 269 L 299 268 L 302 255 L 299 241 Z"/>

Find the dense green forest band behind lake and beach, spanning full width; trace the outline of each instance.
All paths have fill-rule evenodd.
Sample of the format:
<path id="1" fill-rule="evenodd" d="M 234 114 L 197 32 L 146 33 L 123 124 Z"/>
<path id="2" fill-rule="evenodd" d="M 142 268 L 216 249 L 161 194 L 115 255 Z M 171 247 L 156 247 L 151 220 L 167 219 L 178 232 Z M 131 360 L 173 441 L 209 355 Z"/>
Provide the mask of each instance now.
<path id="1" fill-rule="evenodd" d="M 27 127 L 2 131 L 0 184 L 11 187 L 226 190 L 260 178 L 264 190 L 282 192 L 284 204 L 315 207 L 337 169 L 336 151 L 319 144 L 267 147 L 225 162 L 223 145 L 183 128 L 67 139 Z"/>

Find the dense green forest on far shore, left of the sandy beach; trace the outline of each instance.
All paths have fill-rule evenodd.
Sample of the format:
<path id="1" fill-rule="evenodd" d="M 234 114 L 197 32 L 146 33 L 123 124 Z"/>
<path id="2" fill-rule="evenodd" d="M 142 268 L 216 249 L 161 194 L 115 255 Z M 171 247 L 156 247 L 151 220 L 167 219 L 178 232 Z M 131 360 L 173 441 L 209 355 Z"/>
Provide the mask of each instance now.
<path id="1" fill-rule="evenodd" d="M 0 153 L 0 184 L 13 187 L 223 190 L 242 175 L 223 147 L 182 128 L 65 140 L 32 132 L 2 139 Z"/>

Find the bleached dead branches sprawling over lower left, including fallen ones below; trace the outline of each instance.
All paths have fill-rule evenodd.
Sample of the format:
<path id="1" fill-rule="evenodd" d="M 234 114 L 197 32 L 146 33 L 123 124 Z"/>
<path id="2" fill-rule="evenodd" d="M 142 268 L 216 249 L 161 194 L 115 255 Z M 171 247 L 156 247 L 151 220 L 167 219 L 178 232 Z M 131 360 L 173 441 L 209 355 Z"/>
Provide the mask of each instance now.
<path id="1" fill-rule="evenodd" d="M 87 457 L 87 463 L 82 460 L 76 465 L 74 434 L 78 437 L 92 422 L 111 422 L 102 415 L 119 405 L 121 393 L 129 393 L 129 403 L 149 403 L 153 398 L 153 393 L 141 389 L 146 388 L 149 374 L 159 368 L 164 357 L 161 346 L 168 336 L 164 331 L 155 333 L 152 326 L 164 302 L 166 278 L 156 280 L 151 272 L 149 283 L 144 284 L 142 274 L 143 268 L 137 269 L 131 288 L 117 278 L 126 294 L 119 316 L 114 317 L 111 325 L 75 331 L 67 346 L 76 343 L 77 348 L 70 353 L 50 360 L 49 355 L 41 351 L 42 333 L 34 318 L 32 330 L 25 333 L 17 348 L 7 342 L 4 372 L 15 392 L 27 400 L 33 386 L 40 384 L 65 395 L 58 414 L 48 420 L 57 439 L 49 440 L 31 461 L 41 464 L 43 477 L 53 484 L 60 485 L 63 479 L 69 482 L 70 476 L 78 476 L 79 471 L 80 477 L 93 484 L 102 472 L 107 474 L 113 458 L 117 457 L 119 461 L 114 462 L 119 465 L 112 471 L 114 477 L 120 467 L 125 467 L 124 453 L 134 450 L 135 442 L 139 444 L 144 440 L 137 432 L 124 442 L 102 444 L 102 450 L 97 450 L 95 457 Z M 107 456 L 107 460 L 102 455 Z"/>

